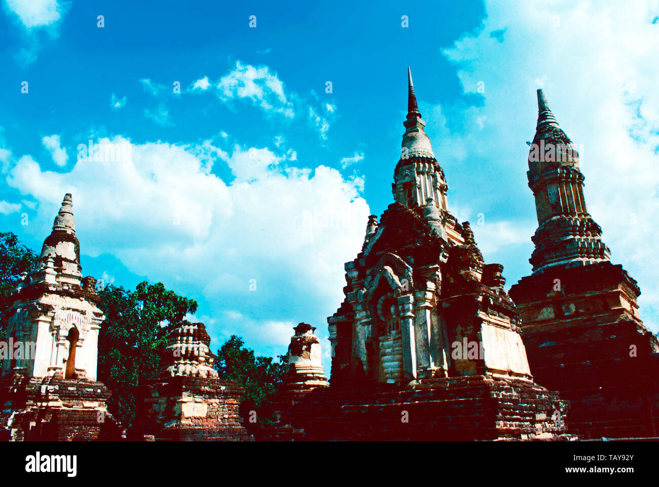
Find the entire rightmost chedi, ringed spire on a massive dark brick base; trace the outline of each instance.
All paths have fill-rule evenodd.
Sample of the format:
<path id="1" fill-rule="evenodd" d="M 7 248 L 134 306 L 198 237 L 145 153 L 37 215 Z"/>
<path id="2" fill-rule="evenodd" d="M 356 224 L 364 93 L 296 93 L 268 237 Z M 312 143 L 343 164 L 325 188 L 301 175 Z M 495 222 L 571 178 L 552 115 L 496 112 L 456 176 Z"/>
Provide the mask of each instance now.
<path id="1" fill-rule="evenodd" d="M 656 436 L 659 341 L 639 318 L 636 281 L 610 262 L 586 209 L 579 154 L 542 90 L 527 174 L 538 215 L 532 275 L 510 295 L 530 370 L 571 402 L 571 432 Z"/>

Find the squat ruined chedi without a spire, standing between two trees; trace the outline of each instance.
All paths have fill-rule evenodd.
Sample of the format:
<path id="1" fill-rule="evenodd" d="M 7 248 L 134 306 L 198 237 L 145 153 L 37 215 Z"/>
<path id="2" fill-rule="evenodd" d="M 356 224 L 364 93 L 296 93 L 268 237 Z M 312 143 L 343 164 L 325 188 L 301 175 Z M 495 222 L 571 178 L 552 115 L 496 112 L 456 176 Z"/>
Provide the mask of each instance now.
<path id="1" fill-rule="evenodd" d="M 140 385 L 130 438 L 148 441 L 253 441 L 239 416 L 241 387 L 219 380 L 203 323 L 169 334 L 158 378 Z"/>

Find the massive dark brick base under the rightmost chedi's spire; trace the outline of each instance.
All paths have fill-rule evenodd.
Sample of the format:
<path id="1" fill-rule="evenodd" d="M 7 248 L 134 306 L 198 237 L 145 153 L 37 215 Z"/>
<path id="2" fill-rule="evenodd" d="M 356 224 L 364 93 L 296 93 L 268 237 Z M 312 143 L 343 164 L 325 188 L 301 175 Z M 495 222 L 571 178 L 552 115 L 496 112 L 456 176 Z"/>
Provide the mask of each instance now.
<path id="1" fill-rule="evenodd" d="M 570 401 L 568 427 L 584 438 L 656 436 L 659 345 L 639 319 L 639 292 L 609 262 L 524 277 L 510 291 L 534 380 Z"/>

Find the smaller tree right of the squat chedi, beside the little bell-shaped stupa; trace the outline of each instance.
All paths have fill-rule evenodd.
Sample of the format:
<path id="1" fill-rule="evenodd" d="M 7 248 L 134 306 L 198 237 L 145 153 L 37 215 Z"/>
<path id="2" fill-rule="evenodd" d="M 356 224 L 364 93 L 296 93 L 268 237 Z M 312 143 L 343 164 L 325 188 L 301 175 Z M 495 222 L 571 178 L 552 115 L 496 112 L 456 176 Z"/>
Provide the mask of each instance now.
<path id="1" fill-rule="evenodd" d="M 241 416 L 249 418 L 256 411 L 258 427 L 273 422 L 273 400 L 286 372 L 286 356 L 279 355 L 279 362 L 272 357 L 256 357 L 253 350 L 243 346 L 241 337 L 231 335 L 217 351 L 215 370 L 221 379 L 233 380 L 244 387 L 241 398 Z"/>

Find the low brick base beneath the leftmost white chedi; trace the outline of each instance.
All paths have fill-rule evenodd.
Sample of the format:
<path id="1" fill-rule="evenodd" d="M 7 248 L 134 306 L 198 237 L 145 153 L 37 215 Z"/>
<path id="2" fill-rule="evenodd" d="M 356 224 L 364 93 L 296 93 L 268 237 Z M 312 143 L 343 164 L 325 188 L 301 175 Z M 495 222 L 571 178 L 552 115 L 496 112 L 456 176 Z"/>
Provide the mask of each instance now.
<path id="1" fill-rule="evenodd" d="M 119 424 L 107 413 L 109 396 L 101 382 L 5 376 L 0 379 L 0 440 L 121 440 Z"/>

